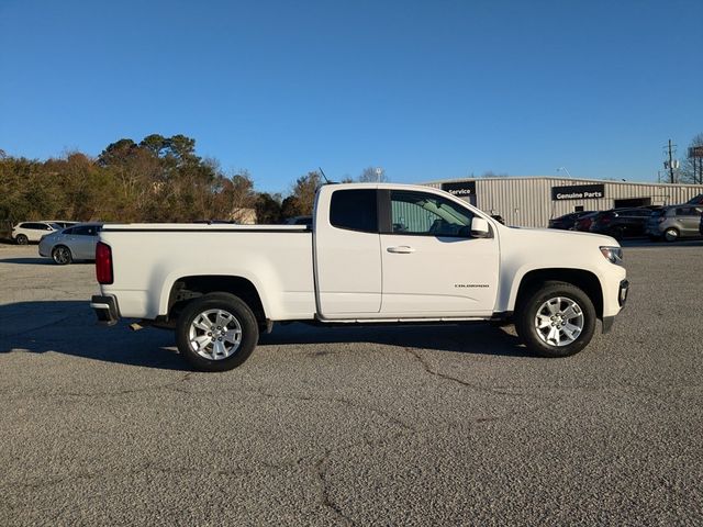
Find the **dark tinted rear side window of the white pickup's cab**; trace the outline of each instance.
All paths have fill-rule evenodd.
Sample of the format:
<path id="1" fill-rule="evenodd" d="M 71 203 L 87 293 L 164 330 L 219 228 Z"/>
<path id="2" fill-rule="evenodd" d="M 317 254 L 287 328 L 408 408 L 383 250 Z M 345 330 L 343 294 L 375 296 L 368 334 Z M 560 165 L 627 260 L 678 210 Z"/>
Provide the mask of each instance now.
<path id="1" fill-rule="evenodd" d="M 378 233 L 376 189 L 335 191 L 330 204 L 330 223 L 337 228 Z"/>

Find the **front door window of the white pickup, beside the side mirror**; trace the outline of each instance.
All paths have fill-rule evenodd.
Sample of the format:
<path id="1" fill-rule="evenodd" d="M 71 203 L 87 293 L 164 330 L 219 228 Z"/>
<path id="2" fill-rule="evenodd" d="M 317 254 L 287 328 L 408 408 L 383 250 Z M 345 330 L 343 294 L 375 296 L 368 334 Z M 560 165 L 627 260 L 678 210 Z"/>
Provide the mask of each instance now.
<path id="1" fill-rule="evenodd" d="M 393 234 L 466 236 L 473 214 L 439 195 L 425 192 L 391 191 Z M 464 227 L 468 227 L 464 228 Z"/>

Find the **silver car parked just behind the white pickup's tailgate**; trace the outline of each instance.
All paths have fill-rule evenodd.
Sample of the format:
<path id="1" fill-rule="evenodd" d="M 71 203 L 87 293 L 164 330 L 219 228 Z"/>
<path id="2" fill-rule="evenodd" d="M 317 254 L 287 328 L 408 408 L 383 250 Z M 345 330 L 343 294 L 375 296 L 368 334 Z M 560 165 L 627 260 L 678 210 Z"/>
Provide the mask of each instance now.
<path id="1" fill-rule="evenodd" d="M 47 234 L 40 240 L 40 256 L 65 266 L 74 260 L 94 260 L 101 223 L 79 223 Z"/>

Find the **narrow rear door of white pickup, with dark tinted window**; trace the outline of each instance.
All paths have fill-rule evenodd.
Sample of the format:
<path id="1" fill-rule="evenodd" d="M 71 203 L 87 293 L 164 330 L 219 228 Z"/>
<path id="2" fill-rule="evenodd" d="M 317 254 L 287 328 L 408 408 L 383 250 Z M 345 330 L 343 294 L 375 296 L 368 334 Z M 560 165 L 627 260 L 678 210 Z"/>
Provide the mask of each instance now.
<path id="1" fill-rule="evenodd" d="M 317 304 L 325 318 L 378 315 L 381 249 L 376 188 L 325 192 L 315 215 Z M 328 201 L 327 201 L 328 199 Z M 322 200 L 322 198 L 321 198 Z"/>

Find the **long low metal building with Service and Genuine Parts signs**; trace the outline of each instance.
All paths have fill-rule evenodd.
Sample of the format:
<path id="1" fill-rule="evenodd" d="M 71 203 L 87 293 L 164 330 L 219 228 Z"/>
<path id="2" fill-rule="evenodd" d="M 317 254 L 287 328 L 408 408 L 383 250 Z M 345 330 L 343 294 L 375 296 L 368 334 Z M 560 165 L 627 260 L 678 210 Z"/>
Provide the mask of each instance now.
<path id="1" fill-rule="evenodd" d="M 465 199 L 507 225 L 546 227 L 574 211 L 673 205 L 703 193 L 703 184 L 635 183 L 551 177 L 467 178 L 425 183 Z"/>

